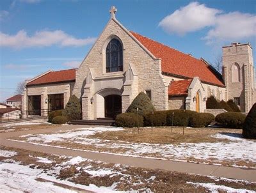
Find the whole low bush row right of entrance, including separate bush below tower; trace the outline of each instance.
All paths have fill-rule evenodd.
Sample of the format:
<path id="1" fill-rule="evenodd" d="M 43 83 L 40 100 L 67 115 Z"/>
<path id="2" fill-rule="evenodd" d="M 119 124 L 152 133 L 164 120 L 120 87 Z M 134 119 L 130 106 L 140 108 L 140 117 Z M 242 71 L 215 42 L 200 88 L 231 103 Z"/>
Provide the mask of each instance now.
<path id="1" fill-rule="evenodd" d="M 116 116 L 118 127 L 206 127 L 212 121 L 220 123 L 225 128 L 242 128 L 246 115 L 240 112 L 224 112 L 214 115 L 206 112 L 195 112 L 188 110 L 156 111 L 153 114 L 137 115 L 132 112 L 125 112 Z"/>

